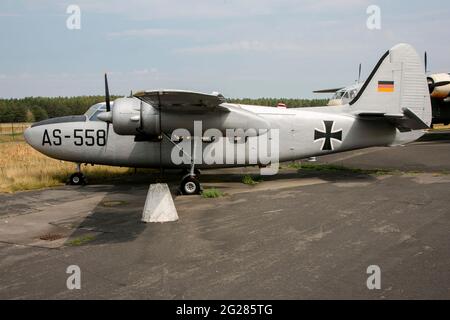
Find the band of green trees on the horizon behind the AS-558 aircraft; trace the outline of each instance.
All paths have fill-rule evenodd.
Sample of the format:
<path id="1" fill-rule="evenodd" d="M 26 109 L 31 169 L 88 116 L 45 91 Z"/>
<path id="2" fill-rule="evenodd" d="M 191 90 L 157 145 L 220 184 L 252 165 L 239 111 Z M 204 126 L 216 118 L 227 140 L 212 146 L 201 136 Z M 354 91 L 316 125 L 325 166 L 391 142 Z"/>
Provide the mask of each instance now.
<path id="1" fill-rule="evenodd" d="M 115 99 L 117 97 L 112 97 Z M 86 112 L 92 105 L 105 101 L 104 96 L 80 97 L 29 97 L 22 99 L 0 99 L 0 123 L 35 122 L 48 118 L 77 115 Z M 309 107 L 326 105 L 324 99 L 229 99 L 231 103 L 276 106 L 283 102 L 288 107 Z"/>

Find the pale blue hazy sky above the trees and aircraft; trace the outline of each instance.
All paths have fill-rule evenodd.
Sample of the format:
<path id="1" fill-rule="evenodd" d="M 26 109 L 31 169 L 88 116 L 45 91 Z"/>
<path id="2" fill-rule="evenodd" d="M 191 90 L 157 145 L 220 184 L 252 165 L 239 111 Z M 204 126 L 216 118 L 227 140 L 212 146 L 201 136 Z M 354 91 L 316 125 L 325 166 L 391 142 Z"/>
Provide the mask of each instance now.
<path id="1" fill-rule="evenodd" d="M 66 8 L 81 9 L 69 30 Z M 366 26 L 369 5 L 381 30 Z M 174 88 L 313 97 L 351 84 L 398 42 L 450 71 L 450 3 L 366 0 L 2 0 L 0 97 Z"/>

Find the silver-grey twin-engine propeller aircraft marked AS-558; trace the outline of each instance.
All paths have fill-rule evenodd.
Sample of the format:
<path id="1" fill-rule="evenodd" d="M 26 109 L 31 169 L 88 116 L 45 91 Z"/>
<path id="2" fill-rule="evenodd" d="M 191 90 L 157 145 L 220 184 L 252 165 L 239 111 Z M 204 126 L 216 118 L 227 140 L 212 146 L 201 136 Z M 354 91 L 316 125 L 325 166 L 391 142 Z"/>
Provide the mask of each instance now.
<path id="1" fill-rule="evenodd" d="M 181 182 L 184 194 L 200 192 L 197 169 L 267 166 L 264 152 L 252 153 L 267 141 L 272 165 L 405 144 L 422 136 L 431 123 L 424 67 L 408 44 L 387 51 L 342 108 L 240 105 L 227 103 L 218 93 L 179 90 L 144 91 L 111 103 L 106 76 L 105 89 L 105 104 L 85 115 L 35 123 L 25 131 L 26 141 L 47 156 L 78 164 L 189 169 Z M 245 134 L 226 134 L 236 129 Z M 180 147 L 186 142 L 193 148 Z M 222 152 L 230 146 L 244 152 Z M 73 184 L 83 180 L 81 172 L 71 176 Z"/>

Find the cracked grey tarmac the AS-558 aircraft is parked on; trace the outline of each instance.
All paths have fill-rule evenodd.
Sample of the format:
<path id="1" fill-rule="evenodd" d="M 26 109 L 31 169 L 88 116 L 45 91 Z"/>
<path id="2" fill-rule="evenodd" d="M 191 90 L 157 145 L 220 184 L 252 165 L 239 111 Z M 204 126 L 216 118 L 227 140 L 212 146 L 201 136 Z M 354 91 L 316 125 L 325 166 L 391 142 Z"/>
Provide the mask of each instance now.
<path id="1" fill-rule="evenodd" d="M 226 195 L 178 196 L 167 224 L 140 222 L 146 177 L 2 194 L 0 298 L 449 299 L 449 142 L 319 159 L 408 173 L 283 169 L 247 186 L 253 168 L 204 171 Z M 66 287 L 73 264 L 81 290 Z"/>

